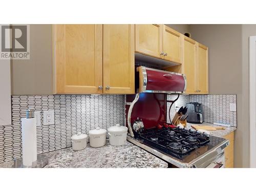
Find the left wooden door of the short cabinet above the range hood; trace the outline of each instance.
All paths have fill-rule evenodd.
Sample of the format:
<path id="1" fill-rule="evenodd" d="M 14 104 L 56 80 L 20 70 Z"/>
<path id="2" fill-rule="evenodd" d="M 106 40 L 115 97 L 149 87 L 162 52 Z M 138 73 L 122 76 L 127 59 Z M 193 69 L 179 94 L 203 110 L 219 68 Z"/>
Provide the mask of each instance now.
<path id="1" fill-rule="evenodd" d="M 163 25 L 135 25 L 135 51 L 161 57 L 163 42 Z"/>

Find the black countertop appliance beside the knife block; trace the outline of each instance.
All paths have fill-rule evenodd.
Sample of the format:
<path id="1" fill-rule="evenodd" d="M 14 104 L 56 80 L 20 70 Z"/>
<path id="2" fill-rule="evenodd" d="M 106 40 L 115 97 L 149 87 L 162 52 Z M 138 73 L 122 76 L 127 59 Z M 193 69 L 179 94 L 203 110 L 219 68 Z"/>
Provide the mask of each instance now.
<path id="1" fill-rule="evenodd" d="M 189 102 L 186 103 L 187 107 L 187 122 L 188 123 L 203 123 L 204 115 L 203 115 L 203 107 L 202 103 L 198 102 Z"/>

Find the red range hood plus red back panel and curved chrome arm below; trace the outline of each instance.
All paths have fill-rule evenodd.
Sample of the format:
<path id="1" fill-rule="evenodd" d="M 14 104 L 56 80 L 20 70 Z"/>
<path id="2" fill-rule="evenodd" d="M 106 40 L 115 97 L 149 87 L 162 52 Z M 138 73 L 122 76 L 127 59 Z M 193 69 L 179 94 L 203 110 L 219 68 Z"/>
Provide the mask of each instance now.
<path id="1" fill-rule="evenodd" d="M 137 117 L 145 120 L 146 122 L 143 122 L 146 129 L 166 121 L 166 94 L 164 93 L 180 94 L 186 90 L 184 74 L 143 66 L 137 67 L 136 71 L 137 94 L 126 96 L 127 126 L 132 137 L 134 137 L 132 120 Z M 138 103 L 136 103 L 137 101 Z M 133 109 L 135 109 L 134 112 Z M 148 117 L 150 114 L 154 115 Z"/>

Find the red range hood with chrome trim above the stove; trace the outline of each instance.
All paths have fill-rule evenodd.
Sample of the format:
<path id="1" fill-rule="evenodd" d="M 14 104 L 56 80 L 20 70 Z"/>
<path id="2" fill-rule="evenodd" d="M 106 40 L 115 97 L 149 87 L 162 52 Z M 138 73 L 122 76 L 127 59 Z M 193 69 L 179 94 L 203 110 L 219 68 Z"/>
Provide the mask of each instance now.
<path id="1" fill-rule="evenodd" d="M 186 90 L 186 76 L 180 73 L 137 67 L 139 93 L 183 93 Z"/>

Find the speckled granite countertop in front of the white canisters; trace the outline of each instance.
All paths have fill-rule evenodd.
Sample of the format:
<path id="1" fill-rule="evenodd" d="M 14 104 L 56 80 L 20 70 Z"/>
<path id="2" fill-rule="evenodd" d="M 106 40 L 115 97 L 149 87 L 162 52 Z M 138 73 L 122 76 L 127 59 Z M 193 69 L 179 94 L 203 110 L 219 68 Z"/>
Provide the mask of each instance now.
<path id="1" fill-rule="evenodd" d="M 156 156 L 126 141 L 122 146 L 112 146 L 109 142 L 98 148 L 87 147 L 73 151 L 72 147 L 45 153 L 49 163 L 45 168 L 160 168 L 168 164 Z M 0 168 L 11 168 L 13 161 L 0 164 Z"/>

